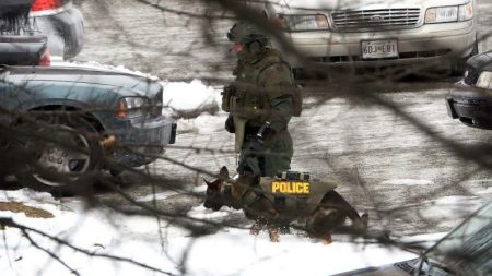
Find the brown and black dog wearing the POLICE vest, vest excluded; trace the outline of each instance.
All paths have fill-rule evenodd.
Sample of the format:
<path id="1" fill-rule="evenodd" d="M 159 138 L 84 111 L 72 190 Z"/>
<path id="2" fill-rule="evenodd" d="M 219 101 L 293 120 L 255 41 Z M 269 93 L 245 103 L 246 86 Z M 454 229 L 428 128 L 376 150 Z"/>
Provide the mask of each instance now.
<path id="1" fill-rule="evenodd" d="M 302 229 L 309 237 L 319 238 L 324 243 L 331 243 L 333 231 L 363 233 L 367 228 L 367 215 L 358 212 L 336 191 L 335 187 L 317 194 L 319 200 L 311 201 L 312 206 L 298 205 L 297 209 L 288 211 L 260 187 L 261 178 L 241 176 L 236 180 L 229 178 L 229 170 L 222 167 L 219 178 L 207 181 L 204 207 L 219 211 L 223 206 L 243 209 L 248 219 L 254 220 L 250 233 L 258 235 L 268 229 L 270 241 L 278 242 L 280 230 L 289 231 L 294 221 L 301 223 Z M 349 218 L 351 224 L 347 225 Z"/>

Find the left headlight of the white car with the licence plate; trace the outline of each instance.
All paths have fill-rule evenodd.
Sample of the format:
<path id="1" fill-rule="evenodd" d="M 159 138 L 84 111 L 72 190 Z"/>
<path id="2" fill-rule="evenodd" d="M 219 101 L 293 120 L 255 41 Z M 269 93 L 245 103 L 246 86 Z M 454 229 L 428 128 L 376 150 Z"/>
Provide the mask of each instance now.
<path id="1" fill-rule="evenodd" d="M 328 19 L 323 14 L 277 14 L 276 22 L 290 32 L 329 29 Z"/>

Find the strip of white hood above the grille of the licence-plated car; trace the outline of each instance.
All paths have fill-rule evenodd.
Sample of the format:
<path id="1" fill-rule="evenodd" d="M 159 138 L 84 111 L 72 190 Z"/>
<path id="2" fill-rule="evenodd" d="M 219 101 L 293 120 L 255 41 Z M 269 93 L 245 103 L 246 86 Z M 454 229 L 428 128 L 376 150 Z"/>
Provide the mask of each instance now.
<path id="1" fill-rule="evenodd" d="M 378 9 L 391 7 L 437 7 L 443 5 L 442 0 L 279 0 L 271 1 L 281 9 L 323 9 L 323 10 L 351 10 Z M 464 4 L 469 0 L 447 0 L 445 5 Z"/>

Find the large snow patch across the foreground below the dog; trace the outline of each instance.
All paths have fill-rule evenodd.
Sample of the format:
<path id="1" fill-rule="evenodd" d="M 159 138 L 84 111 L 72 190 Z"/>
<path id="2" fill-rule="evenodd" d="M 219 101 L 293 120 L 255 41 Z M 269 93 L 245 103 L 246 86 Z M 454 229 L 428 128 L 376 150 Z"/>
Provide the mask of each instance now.
<path id="1" fill-rule="evenodd" d="M 52 218 L 32 218 L 24 213 L 0 212 L 48 235 L 71 242 L 75 247 L 98 254 L 114 254 L 177 274 L 183 257 L 187 275 L 300 275 L 308 267 L 309 275 L 330 275 L 351 268 L 382 265 L 414 257 L 413 254 L 383 248 L 335 242 L 324 245 L 300 235 L 283 235 L 281 242 L 271 243 L 267 233 L 258 237 L 246 229 L 225 229 L 198 239 L 177 227 L 161 225 L 149 217 L 122 217 L 105 209 L 85 209 L 84 204 L 63 206 L 47 193 L 28 189 L 7 191 L 0 202 L 24 202 L 54 214 Z M 197 218 L 227 215 L 196 207 Z M 162 230 L 163 242 L 159 229 Z M 17 229 L 1 231 L 0 271 L 5 275 L 70 275 L 70 271 L 30 244 Z M 38 245 L 60 255 L 80 275 L 154 275 L 126 262 L 90 257 L 72 249 L 58 247 L 54 241 L 32 235 Z M 188 251 L 188 252 L 187 252 Z M 185 254 L 187 252 L 187 255 Z M 356 254 L 355 254 L 356 253 Z"/>

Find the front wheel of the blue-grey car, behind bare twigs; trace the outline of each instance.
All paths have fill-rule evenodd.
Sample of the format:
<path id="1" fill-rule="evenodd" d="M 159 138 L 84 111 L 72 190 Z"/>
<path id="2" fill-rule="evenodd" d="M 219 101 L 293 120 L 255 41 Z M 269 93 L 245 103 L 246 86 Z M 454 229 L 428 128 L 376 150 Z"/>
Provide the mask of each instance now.
<path id="1" fill-rule="evenodd" d="M 92 192 L 103 148 L 97 131 L 86 120 L 72 116 L 44 118 L 24 133 L 22 147 L 32 153 L 32 158 L 16 173 L 21 184 L 58 195 Z"/>

